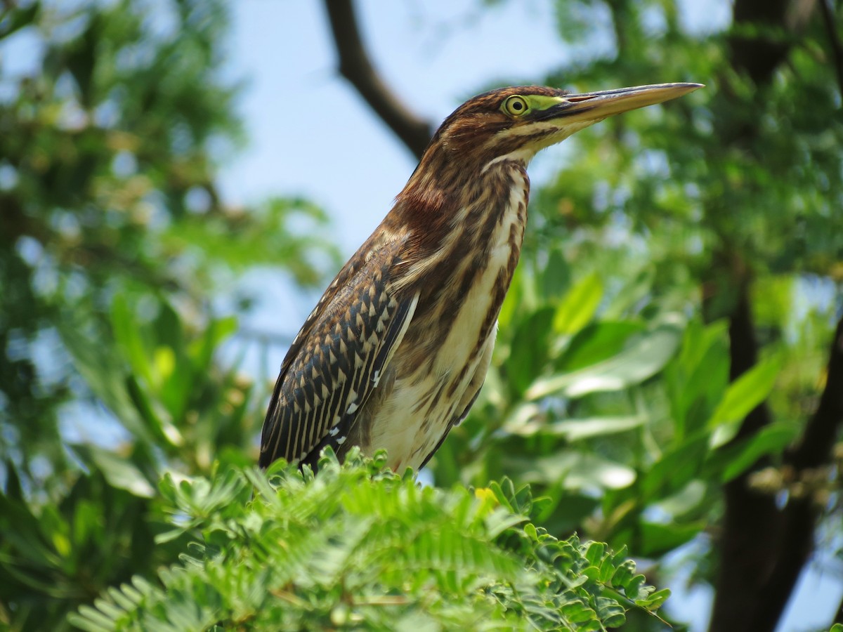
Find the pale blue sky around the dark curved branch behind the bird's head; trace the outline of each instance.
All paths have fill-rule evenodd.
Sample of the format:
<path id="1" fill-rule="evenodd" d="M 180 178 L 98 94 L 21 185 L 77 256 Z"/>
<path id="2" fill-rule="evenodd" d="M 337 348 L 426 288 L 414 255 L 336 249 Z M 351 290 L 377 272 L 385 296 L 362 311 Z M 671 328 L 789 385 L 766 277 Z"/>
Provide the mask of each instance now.
<path id="1" fill-rule="evenodd" d="M 566 58 L 550 3 L 478 5 L 361 3 L 379 70 L 429 120 L 441 121 L 488 83 L 534 81 Z M 501 45 L 513 40 L 530 46 L 513 56 Z M 238 3 L 231 55 L 251 79 L 242 101 L 251 144 L 223 174 L 223 192 L 235 200 L 306 195 L 330 210 L 350 253 L 389 211 L 415 159 L 337 75 L 322 4 Z"/>

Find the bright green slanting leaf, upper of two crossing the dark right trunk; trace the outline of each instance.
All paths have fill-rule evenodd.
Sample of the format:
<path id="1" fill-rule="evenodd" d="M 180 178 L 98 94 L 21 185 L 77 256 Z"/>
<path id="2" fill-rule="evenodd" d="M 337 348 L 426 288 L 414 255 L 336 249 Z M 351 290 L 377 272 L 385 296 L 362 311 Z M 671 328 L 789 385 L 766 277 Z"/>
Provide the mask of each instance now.
<path id="1" fill-rule="evenodd" d="M 744 417 L 771 394 L 781 371 L 781 356 L 771 356 L 729 384 L 706 427 L 713 431 L 711 447 L 732 440 Z"/>

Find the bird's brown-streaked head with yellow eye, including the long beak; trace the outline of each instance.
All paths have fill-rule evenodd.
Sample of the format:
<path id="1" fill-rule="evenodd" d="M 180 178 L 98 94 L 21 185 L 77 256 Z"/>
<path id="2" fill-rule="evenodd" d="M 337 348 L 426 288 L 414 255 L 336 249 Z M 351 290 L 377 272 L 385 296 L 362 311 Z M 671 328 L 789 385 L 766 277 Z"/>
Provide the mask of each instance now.
<path id="1" fill-rule="evenodd" d="M 700 83 L 660 83 L 583 94 L 540 86 L 499 88 L 460 105 L 439 126 L 426 154 L 483 166 L 507 159 L 526 165 L 540 149 L 608 116 L 675 99 L 701 87 Z"/>

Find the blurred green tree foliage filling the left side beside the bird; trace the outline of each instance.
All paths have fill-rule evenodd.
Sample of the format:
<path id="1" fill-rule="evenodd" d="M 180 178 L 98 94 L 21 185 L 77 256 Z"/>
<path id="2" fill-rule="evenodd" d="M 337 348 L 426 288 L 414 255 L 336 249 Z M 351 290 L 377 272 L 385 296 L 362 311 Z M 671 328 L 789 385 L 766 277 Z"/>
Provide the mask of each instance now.
<path id="1" fill-rule="evenodd" d="M 0 8 L 0 46 L 18 62 L 0 65 L 0 626 L 12 629 L 65 629 L 106 587 L 175 562 L 185 543 L 154 540 L 163 472 L 255 460 L 262 403 L 218 360 L 237 321 L 214 312 L 214 292 L 257 265 L 311 284 L 336 264 L 308 201 L 219 198 L 217 166 L 242 143 L 239 84 L 221 68 L 225 4 L 158 3 L 155 20 L 147 8 Z"/>

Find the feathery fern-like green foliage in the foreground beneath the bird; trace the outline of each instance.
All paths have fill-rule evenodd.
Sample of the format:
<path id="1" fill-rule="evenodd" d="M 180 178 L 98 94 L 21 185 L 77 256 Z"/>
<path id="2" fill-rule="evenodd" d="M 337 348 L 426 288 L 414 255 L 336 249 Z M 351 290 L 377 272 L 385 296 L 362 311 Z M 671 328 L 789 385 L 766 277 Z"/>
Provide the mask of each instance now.
<path id="1" fill-rule="evenodd" d="M 385 455 L 332 453 L 319 475 L 167 476 L 172 529 L 196 538 L 157 581 L 135 577 L 71 616 L 115 629 L 604 630 L 654 592 L 623 552 L 558 540 L 529 522 L 540 506 L 504 479 L 482 490 L 421 487 Z"/>

